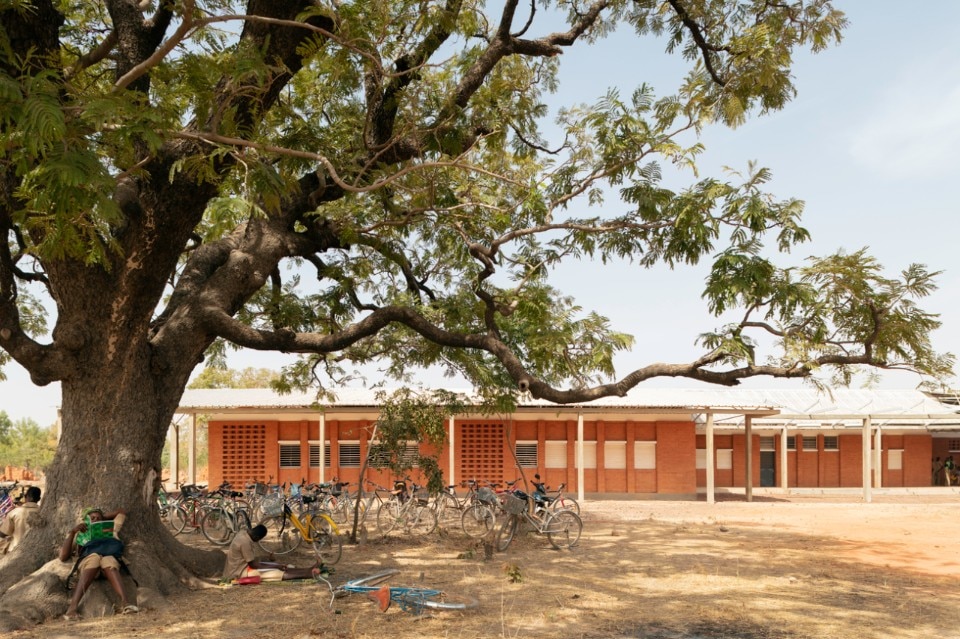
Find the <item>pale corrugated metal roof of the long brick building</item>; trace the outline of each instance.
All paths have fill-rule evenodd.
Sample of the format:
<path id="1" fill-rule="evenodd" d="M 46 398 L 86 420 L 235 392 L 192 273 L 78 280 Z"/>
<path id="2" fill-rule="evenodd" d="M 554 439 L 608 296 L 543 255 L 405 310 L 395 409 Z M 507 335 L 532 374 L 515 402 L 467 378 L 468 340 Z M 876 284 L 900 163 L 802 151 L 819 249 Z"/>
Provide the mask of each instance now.
<path id="1" fill-rule="evenodd" d="M 470 390 L 449 389 L 471 394 Z M 181 413 L 243 410 L 319 411 L 378 407 L 378 391 L 339 388 L 334 400 L 316 401 L 313 393 L 280 395 L 270 389 L 187 390 L 180 402 Z M 754 417 L 755 424 L 835 423 L 856 424 L 866 417 L 885 422 L 960 425 L 960 413 L 917 390 L 837 389 L 821 393 L 813 389 L 650 389 L 635 388 L 625 397 L 604 397 L 583 404 L 557 405 L 546 401 L 525 401 L 521 408 L 550 408 L 558 413 L 596 410 L 662 411 L 700 415 L 718 413 L 718 426 L 742 425 L 743 414 L 779 415 Z M 729 413 L 729 414 L 724 414 Z"/>

